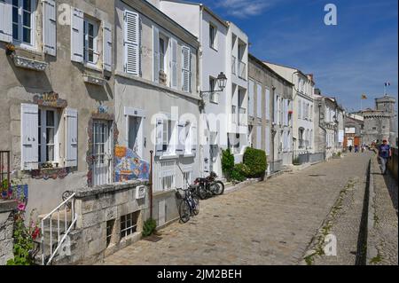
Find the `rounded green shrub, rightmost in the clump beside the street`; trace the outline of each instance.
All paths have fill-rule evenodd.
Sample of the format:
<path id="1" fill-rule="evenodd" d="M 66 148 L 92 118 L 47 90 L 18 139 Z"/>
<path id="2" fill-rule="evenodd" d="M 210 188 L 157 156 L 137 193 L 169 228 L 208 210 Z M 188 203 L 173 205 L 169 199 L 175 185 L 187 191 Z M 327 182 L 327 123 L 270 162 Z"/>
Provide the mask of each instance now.
<path id="1" fill-rule="evenodd" d="M 250 171 L 248 177 L 264 177 L 268 169 L 266 153 L 260 149 L 248 147 L 244 153 L 244 164 Z"/>

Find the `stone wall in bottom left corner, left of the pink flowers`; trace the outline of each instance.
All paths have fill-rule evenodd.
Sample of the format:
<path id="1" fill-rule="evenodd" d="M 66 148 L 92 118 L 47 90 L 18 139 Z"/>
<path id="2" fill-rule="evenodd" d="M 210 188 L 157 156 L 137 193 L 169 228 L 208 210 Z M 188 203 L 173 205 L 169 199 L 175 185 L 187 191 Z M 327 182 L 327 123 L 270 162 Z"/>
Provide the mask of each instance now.
<path id="1" fill-rule="evenodd" d="M 5 265 L 12 254 L 15 200 L 0 200 L 0 265 Z"/>

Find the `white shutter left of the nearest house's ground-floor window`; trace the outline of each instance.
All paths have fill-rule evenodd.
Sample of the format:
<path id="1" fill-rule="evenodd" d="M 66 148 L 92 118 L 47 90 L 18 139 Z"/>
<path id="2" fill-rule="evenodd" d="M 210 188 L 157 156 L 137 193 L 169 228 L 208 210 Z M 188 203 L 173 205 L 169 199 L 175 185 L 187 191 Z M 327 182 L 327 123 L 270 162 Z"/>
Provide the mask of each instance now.
<path id="1" fill-rule="evenodd" d="M 21 169 L 39 168 L 38 119 L 39 107 L 34 104 L 21 104 Z"/>

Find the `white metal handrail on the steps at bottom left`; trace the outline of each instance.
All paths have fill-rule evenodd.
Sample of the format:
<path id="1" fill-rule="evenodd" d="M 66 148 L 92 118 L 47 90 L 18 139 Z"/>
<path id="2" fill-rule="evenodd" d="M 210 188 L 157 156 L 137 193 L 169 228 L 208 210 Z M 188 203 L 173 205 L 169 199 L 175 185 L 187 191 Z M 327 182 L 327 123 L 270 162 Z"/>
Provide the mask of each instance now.
<path id="1" fill-rule="evenodd" d="M 47 216 L 44 216 L 42 219 L 42 239 L 41 239 L 41 249 L 42 249 L 42 264 L 47 265 L 50 264 L 54 256 L 59 254 L 59 248 L 61 248 L 62 244 L 66 240 L 66 237 L 68 236 L 69 232 L 74 228 L 74 224 L 76 223 L 77 220 L 77 214 L 74 213 L 74 196 L 76 193 L 72 193 L 66 200 L 64 200 L 57 208 L 54 208 L 51 213 L 49 213 Z M 71 219 L 68 224 L 68 213 L 70 213 Z M 63 221 L 64 221 L 64 226 L 60 226 L 60 214 L 63 214 Z M 52 233 L 53 233 L 53 227 L 52 227 L 52 220 L 53 216 L 57 215 L 57 218 L 54 217 L 54 220 L 57 219 L 57 227 L 55 227 L 56 232 L 57 232 L 57 247 L 53 248 L 53 240 L 52 238 Z M 62 216 L 61 216 L 62 217 Z M 45 235 L 45 226 L 44 222 L 46 220 L 49 220 L 49 231 L 50 232 L 50 258 L 46 262 L 45 258 L 45 250 L 44 250 L 44 235 Z M 62 230 L 65 228 L 64 230 Z M 55 243 L 54 243 L 55 244 Z"/>

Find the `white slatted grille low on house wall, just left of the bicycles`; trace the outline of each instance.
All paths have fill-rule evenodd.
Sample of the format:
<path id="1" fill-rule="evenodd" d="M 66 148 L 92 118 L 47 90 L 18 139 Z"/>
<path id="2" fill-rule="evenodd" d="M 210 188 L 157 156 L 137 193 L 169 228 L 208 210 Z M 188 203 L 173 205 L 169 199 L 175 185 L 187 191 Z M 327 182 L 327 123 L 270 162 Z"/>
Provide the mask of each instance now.
<path id="1" fill-rule="evenodd" d="M 176 188 L 176 161 L 160 161 L 157 164 L 155 192 L 164 192 Z"/>

